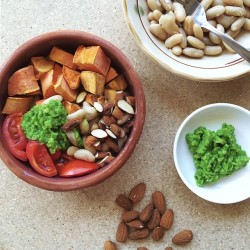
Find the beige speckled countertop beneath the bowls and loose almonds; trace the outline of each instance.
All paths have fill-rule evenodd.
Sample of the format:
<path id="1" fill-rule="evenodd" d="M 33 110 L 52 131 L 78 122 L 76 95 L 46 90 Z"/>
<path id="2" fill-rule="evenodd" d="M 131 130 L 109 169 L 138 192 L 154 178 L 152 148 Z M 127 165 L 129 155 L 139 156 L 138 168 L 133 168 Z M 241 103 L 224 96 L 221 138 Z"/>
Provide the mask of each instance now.
<path id="1" fill-rule="evenodd" d="M 230 102 L 250 109 L 249 76 L 224 83 L 199 83 L 165 71 L 151 61 L 133 40 L 122 1 L 1 0 L 0 64 L 29 38 L 47 31 L 76 29 L 111 41 L 130 59 L 142 80 L 147 116 L 141 139 L 128 162 L 113 177 L 87 190 L 55 193 L 18 179 L 0 162 L 0 249 L 103 249 L 115 241 L 122 209 L 115 199 L 144 181 L 146 196 L 166 195 L 175 212 L 173 228 L 163 240 L 118 244 L 118 249 L 164 249 L 183 228 L 194 239 L 173 249 L 247 250 L 250 246 L 250 200 L 218 205 L 193 194 L 179 178 L 172 156 L 175 133 L 193 110 L 214 102 Z"/>

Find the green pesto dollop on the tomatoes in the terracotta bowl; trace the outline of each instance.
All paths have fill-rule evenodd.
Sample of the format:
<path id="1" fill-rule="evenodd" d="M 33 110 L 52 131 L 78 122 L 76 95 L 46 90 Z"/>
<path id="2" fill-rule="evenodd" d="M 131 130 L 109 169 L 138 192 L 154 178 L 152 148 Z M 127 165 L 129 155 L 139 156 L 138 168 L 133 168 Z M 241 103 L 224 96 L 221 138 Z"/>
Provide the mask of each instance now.
<path id="1" fill-rule="evenodd" d="M 61 130 L 66 122 L 67 112 L 60 101 L 35 105 L 24 114 L 21 123 L 26 137 L 45 144 L 50 153 L 69 147 L 68 138 Z"/>

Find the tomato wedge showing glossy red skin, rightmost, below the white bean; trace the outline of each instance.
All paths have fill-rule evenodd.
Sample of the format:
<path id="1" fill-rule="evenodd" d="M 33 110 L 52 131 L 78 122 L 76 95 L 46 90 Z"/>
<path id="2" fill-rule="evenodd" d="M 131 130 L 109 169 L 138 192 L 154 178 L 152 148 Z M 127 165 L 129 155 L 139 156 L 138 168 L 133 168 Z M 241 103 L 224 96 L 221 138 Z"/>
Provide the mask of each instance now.
<path id="1" fill-rule="evenodd" d="M 83 160 L 71 160 L 58 168 L 61 177 L 75 177 L 92 173 L 99 168 L 95 162 L 87 162 Z"/>

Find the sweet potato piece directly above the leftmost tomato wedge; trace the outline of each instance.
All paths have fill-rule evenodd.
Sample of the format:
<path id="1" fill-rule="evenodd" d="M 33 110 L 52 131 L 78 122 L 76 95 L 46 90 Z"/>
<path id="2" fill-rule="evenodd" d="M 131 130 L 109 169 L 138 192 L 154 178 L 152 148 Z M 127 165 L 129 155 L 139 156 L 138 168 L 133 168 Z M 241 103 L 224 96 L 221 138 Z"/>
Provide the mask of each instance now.
<path id="1" fill-rule="evenodd" d="M 34 104 L 33 97 L 8 97 L 3 114 L 26 113 Z"/>

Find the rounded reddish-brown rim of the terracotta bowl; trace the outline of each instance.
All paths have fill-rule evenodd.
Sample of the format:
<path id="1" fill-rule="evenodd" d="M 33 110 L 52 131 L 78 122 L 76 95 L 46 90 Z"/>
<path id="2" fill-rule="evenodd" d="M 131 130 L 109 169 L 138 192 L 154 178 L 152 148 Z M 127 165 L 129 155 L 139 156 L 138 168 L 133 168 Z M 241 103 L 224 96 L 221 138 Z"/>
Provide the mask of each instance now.
<path id="1" fill-rule="evenodd" d="M 0 158 L 2 159 L 6 167 L 8 167 L 17 177 L 24 180 L 25 182 L 33 186 L 50 191 L 72 191 L 77 189 L 83 189 L 99 184 L 102 181 L 106 180 L 107 178 L 111 177 L 130 158 L 131 154 L 133 153 L 136 147 L 136 144 L 139 141 L 139 138 L 143 130 L 143 125 L 145 122 L 145 114 L 146 114 L 145 96 L 141 80 L 134 66 L 131 64 L 130 60 L 118 47 L 116 47 L 114 44 L 107 41 L 106 39 L 103 39 L 100 36 L 90 32 L 79 31 L 79 30 L 57 30 L 57 31 L 42 33 L 25 41 L 11 53 L 11 55 L 1 66 L 0 80 L 3 78 L 3 75 L 10 70 L 11 65 L 15 60 L 15 58 L 17 56 L 20 56 L 24 51 L 27 52 L 27 49 L 29 48 L 30 45 L 34 43 L 39 43 L 44 39 L 46 41 L 47 40 L 49 41 L 51 39 L 65 39 L 65 37 L 71 37 L 71 36 L 74 36 L 75 38 L 87 39 L 87 41 L 91 44 L 100 45 L 101 47 L 104 48 L 105 51 L 107 50 L 110 54 L 112 54 L 112 56 L 117 61 L 119 61 L 118 63 L 119 67 L 126 68 L 126 71 L 128 72 L 131 79 L 132 78 L 134 79 L 132 83 L 132 88 L 134 95 L 137 97 L 135 98 L 136 99 L 135 100 L 136 110 L 134 116 L 135 123 L 132 128 L 132 131 L 130 132 L 130 136 L 128 137 L 126 144 L 123 146 L 122 150 L 119 152 L 119 154 L 115 157 L 115 159 L 111 163 L 109 163 L 105 167 L 99 169 L 98 171 L 92 174 L 74 178 L 45 177 L 36 173 L 32 169 L 31 170 L 25 169 L 27 167 L 25 166 L 24 163 L 21 163 L 23 167 L 20 166 L 16 167 L 17 164 L 20 165 L 20 161 L 14 158 L 8 152 L 8 150 L 6 150 L 5 152 L 3 145 L 4 142 L 3 140 L 1 140 Z M 81 42 L 79 42 L 79 44 L 80 43 Z M 2 114 L 0 115 L 2 116 Z"/>

